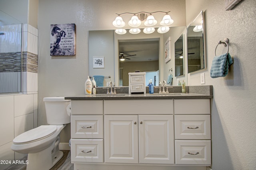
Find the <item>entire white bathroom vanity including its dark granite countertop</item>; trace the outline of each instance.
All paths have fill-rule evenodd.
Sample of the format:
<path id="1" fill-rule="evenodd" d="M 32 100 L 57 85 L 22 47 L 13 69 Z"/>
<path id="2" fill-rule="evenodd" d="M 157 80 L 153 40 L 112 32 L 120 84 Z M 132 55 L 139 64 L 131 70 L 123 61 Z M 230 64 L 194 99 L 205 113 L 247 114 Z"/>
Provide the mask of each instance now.
<path id="1" fill-rule="evenodd" d="M 74 169 L 205 170 L 211 165 L 210 93 L 66 97 Z"/>

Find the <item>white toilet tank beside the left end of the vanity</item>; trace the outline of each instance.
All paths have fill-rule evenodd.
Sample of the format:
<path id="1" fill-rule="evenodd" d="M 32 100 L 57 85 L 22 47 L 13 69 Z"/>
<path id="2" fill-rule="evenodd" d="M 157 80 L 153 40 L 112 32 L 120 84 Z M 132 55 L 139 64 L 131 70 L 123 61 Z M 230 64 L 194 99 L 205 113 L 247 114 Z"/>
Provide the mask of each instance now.
<path id="1" fill-rule="evenodd" d="M 70 113 L 67 112 L 67 107 L 71 103 L 71 100 L 65 100 L 64 97 L 45 97 L 44 103 L 48 124 L 58 125 L 70 123 Z"/>

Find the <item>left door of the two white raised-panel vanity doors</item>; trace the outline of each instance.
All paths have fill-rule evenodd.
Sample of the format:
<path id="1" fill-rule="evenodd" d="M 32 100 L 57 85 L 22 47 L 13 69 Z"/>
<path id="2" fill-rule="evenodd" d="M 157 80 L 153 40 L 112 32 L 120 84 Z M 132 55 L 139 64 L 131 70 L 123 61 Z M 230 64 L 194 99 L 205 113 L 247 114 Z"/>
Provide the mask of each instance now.
<path id="1" fill-rule="evenodd" d="M 138 116 L 104 116 L 105 162 L 138 163 Z"/>

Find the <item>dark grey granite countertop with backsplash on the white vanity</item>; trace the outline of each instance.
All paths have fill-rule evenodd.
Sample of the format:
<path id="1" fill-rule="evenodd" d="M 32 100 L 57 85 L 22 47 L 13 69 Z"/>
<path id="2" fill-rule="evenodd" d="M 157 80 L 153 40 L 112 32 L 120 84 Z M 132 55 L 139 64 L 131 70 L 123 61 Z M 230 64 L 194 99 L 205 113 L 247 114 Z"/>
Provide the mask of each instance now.
<path id="1" fill-rule="evenodd" d="M 187 86 L 188 93 L 180 93 L 180 87 L 174 87 L 167 94 L 128 94 L 128 93 L 118 93 L 118 94 L 83 94 L 78 96 L 67 96 L 67 100 L 145 100 L 145 99 L 201 99 L 201 98 L 213 98 L 212 86 Z M 101 92 L 102 89 L 97 91 Z M 106 90 L 106 89 L 104 89 Z M 125 89 L 122 89 L 125 90 Z M 104 91 L 105 92 L 105 91 Z M 121 92 L 121 91 L 120 91 Z M 125 91 L 122 91 L 125 92 Z"/>

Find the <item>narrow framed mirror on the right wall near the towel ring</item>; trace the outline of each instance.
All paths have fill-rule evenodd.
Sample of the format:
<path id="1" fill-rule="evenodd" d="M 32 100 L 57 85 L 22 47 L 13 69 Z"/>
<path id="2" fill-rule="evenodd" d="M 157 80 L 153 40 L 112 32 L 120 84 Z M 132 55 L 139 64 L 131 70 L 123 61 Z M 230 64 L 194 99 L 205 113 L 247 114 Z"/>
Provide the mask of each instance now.
<path id="1" fill-rule="evenodd" d="M 203 11 L 187 27 L 188 73 L 206 68 L 205 29 Z"/>

